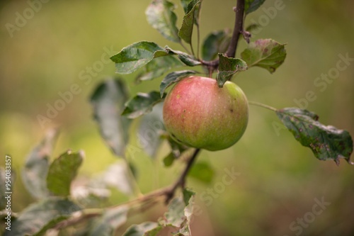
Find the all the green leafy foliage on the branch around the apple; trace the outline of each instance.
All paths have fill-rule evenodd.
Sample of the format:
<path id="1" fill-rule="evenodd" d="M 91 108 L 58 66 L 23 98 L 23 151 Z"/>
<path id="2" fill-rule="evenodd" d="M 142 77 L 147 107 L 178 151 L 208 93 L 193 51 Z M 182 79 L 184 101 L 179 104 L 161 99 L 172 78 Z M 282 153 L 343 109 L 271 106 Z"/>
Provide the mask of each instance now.
<path id="1" fill-rule="evenodd" d="M 241 18 L 256 11 L 264 1 L 240 1 L 244 4 Z M 154 42 L 133 43 L 110 57 L 115 62 L 118 74 L 139 72 L 137 81 L 144 82 L 157 79 L 171 69 L 199 66 L 207 70 L 210 76 L 217 69 L 217 84 L 222 88 L 234 74 L 246 72 L 251 67 L 261 67 L 273 73 L 285 61 L 286 44 L 272 39 L 258 39 L 251 42 L 248 48 L 241 52 L 241 58 L 230 57 L 226 53 L 230 48 L 229 45 L 237 43 L 241 38 L 237 37 L 236 42 L 232 41 L 228 30 L 219 30 L 207 35 L 201 47 L 202 57 L 200 58 L 199 48 L 197 54 L 193 49 L 193 33 L 198 30 L 199 46 L 202 0 L 181 0 L 181 5 L 185 14 L 180 28 L 176 26 L 177 16 L 174 12 L 176 6 L 170 1 L 154 0 L 145 13 L 148 23 L 153 28 L 167 40 L 180 43 L 186 52 L 173 50 L 169 46 L 161 47 Z M 251 28 L 246 30 L 251 30 Z M 190 50 L 184 43 L 189 45 Z M 161 143 L 167 140 L 171 152 L 164 158 L 165 167 L 171 167 L 174 162 L 183 160 L 186 154 L 190 154 L 188 147 L 174 141 L 164 132 L 164 125 L 159 114 L 161 114 L 161 103 L 164 101 L 166 89 L 192 74 L 200 74 L 200 72 L 185 68 L 169 72 L 161 80 L 159 91 L 156 89 L 149 93 L 138 93 L 132 97 L 122 78 L 110 78 L 98 84 L 90 98 L 93 116 L 108 147 L 123 160 L 108 167 L 100 178 L 92 179 L 89 184 L 81 186 L 86 189 L 88 196 L 96 196 L 98 201 L 104 202 L 105 197 L 102 193 L 109 194 L 112 186 L 128 196 L 134 192 L 136 188 L 134 166 L 126 154 L 130 142 L 128 134 L 133 123 L 132 119 L 137 118 L 139 121 L 137 135 L 142 142 L 143 149 L 152 158 L 156 156 Z M 257 103 L 253 104 L 257 105 Z M 350 154 L 353 152 L 353 140 L 346 130 L 323 125 L 319 123 L 318 116 L 304 109 L 270 108 L 270 110 L 275 111 L 297 141 L 311 148 L 317 159 L 331 159 L 337 164 L 339 164 L 339 159 L 346 159 L 352 164 Z M 50 163 L 56 137 L 57 131 L 50 130 L 45 139 L 28 155 L 21 176 L 25 188 L 33 198 L 39 201 L 23 210 L 18 218 L 13 220 L 15 230 L 6 231 L 5 235 L 44 235 L 50 228 L 57 232 L 61 230 L 65 232 L 67 227 L 76 223 L 83 223 L 84 235 L 114 235 L 115 230 L 126 223 L 128 213 L 132 213 L 135 207 L 153 205 L 154 199 L 160 196 L 164 196 L 169 203 L 164 216 L 156 223 L 145 222 L 131 225 L 124 235 L 156 235 L 165 227 L 173 227 L 175 229 L 173 235 L 191 235 L 190 223 L 195 193 L 184 188 L 184 178 L 188 174 L 195 179 L 210 183 L 215 174 L 215 169 L 205 162 L 199 162 L 190 168 L 189 164 L 192 164 L 198 150 L 194 151 L 184 175 L 173 188 L 160 189 L 155 193 L 139 196 L 135 200 L 107 208 L 86 208 L 89 204 L 80 203 L 79 198 L 73 193 L 72 186 L 72 181 L 76 178 L 79 167 L 84 161 L 84 152 L 68 150 Z M 101 186 L 99 191 L 94 191 L 98 189 L 96 185 Z M 178 186 L 183 189 L 182 196 L 174 197 L 174 191 Z"/>

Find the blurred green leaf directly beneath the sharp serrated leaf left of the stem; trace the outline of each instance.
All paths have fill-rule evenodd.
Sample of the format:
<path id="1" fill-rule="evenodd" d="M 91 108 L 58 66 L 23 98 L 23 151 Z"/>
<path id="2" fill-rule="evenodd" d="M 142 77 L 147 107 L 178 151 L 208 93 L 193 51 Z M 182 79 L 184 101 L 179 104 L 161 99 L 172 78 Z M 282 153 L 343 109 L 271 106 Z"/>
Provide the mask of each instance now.
<path id="1" fill-rule="evenodd" d="M 140 72 L 137 76 L 137 82 L 155 79 L 169 71 L 169 69 L 182 67 L 184 65 L 185 64 L 175 56 L 157 57 L 143 67 L 144 71 Z"/>

